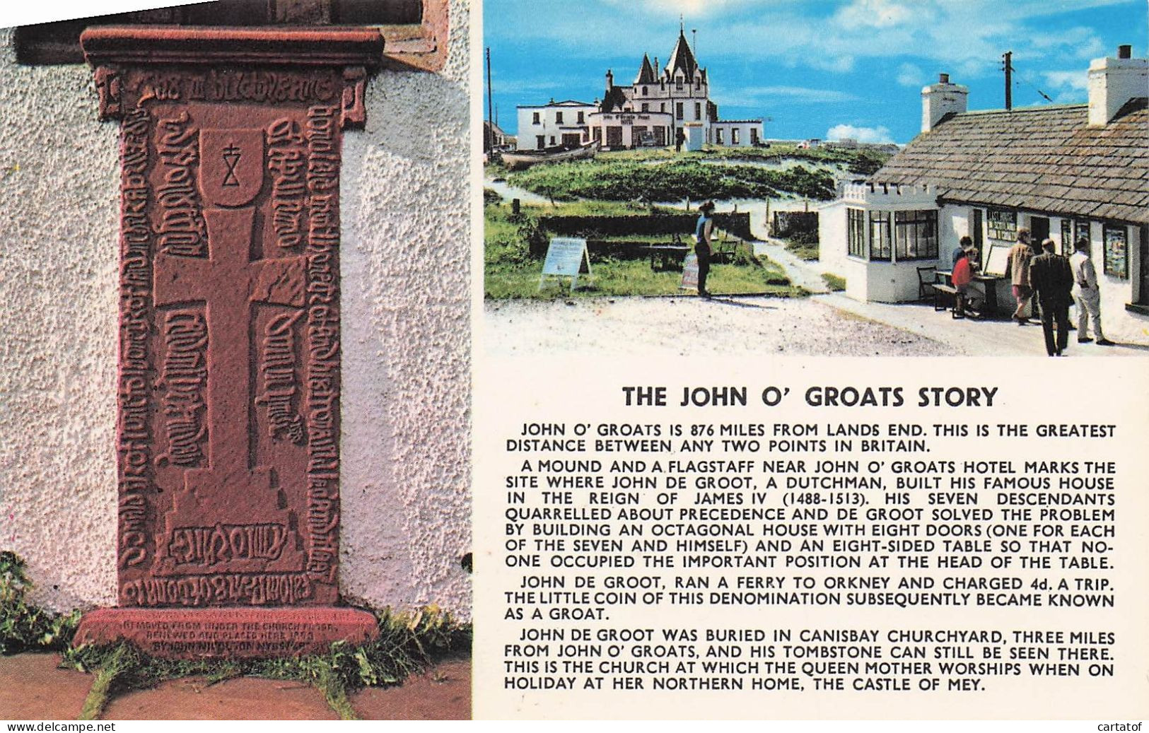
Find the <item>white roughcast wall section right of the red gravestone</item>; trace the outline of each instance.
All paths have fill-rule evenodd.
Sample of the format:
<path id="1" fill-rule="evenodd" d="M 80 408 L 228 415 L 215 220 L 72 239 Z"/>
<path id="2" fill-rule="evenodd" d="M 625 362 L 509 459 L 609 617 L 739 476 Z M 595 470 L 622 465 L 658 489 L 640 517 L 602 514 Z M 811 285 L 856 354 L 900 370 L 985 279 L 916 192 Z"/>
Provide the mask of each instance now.
<path id="1" fill-rule="evenodd" d="M 469 618 L 466 34 L 452 2 L 446 69 L 379 74 L 344 136 L 340 573 L 350 600 Z"/>

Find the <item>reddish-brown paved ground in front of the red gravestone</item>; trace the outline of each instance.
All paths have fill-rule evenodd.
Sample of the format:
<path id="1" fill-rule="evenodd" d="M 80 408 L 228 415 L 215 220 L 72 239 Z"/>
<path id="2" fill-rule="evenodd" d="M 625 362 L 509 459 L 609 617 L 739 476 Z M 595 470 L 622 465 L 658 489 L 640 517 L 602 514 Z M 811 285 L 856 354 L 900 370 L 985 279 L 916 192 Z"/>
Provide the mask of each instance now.
<path id="1" fill-rule="evenodd" d="M 0 657 L 0 718 L 75 720 L 92 676 L 56 669 L 59 655 Z M 471 663 L 439 664 L 401 687 L 370 688 L 350 696 L 369 720 L 445 720 L 471 717 Z M 323 695 L 299 682 L 238 678 L 208 685 L 186 678 L 116 697 L 106 720 L 334 720 Z"/>

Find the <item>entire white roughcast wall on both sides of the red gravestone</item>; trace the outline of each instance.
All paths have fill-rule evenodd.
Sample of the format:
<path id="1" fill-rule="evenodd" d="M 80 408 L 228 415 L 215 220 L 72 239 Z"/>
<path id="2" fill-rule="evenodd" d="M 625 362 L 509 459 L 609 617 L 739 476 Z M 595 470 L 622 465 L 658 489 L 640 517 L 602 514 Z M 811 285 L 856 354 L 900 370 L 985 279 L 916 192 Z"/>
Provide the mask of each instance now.
<path id="1" fill-rule="evenodd" d="M 466 0 L 441 74 L 384 71 L 344 138 L 342 557 L 350 602 L 470 618 Z M 34 600 L 115 603 L 118 126 L 92 71 L 0 31 L 0 549 Z"/>

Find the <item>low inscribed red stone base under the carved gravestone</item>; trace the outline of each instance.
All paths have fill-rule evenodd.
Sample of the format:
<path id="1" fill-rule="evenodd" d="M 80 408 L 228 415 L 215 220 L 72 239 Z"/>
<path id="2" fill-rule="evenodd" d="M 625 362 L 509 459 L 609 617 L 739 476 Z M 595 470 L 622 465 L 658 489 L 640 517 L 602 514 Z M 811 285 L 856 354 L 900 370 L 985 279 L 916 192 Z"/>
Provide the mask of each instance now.
<path id="1" fill-rule="evenodd" d="M 375 616 L 353 608 L 105 608 L 84 615 L 74 645 L 128 641 L 157 657 L 291 657 L 324 654 L 337 641 L 379 633 Z"/>

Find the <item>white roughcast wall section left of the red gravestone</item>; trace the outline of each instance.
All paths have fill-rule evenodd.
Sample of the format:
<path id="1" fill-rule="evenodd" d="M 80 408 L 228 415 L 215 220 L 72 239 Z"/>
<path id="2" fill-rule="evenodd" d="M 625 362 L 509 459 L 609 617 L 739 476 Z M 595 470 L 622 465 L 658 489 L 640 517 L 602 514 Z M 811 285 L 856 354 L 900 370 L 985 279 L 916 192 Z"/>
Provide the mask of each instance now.
<path id="1" fill-rule="evenodd" d="M 118 134 L 91 79 L 0 31 L 0 548 L 61 609 L 116 597 Z"/>

